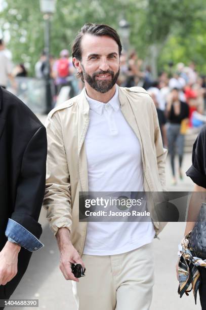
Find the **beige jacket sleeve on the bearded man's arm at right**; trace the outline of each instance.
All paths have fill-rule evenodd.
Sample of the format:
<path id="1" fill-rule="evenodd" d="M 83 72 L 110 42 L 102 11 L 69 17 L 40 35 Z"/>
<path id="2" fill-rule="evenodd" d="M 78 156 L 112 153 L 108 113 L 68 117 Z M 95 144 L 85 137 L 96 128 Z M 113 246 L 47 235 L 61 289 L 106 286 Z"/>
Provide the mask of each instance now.
<path id="1" fill-rule="evenodd" d="M 163 148 L 163 145 L 162 145 L 162 138 L 161 138 L 161 132 L 159 128 L 157 111 L 156 111 L 156 107 L 153 101 L 152 101 L 152 113 L 153 113 L 153 124 L 154 124 L 154 144 L 155 144 L 155 149 L 156 149 L 156 160 L 157 160 L 157 167 L 158 167 L 158 173 L 159 173 L 159 180 L 162 185 L 162 190 L 166 191 L 167 189 L 166 189 L 165 167 L 166 167 L 166 158 L 167 158 L 168 150 L 166 148 Z"/>

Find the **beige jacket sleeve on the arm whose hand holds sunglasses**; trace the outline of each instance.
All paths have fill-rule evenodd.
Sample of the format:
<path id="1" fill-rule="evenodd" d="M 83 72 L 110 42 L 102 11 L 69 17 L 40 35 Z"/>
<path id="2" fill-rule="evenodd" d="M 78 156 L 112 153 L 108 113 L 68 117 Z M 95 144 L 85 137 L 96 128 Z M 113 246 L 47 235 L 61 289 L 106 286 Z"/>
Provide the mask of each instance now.
<path id="1" fill-rule="evenodd" d="M 56 235 L 61 227 L 71 231 L 72 225 L 70 177 L 58 112 L 48 115 L 46 128 L 48 157 L 44 207 L 50 228 Z"/>

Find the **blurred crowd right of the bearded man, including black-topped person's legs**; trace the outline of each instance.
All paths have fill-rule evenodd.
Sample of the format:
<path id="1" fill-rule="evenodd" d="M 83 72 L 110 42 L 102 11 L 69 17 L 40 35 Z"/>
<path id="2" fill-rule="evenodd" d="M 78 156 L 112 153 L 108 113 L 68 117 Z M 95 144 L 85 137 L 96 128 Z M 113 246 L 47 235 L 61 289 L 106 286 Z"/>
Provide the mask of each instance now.
<path id="1" fill-rule="evenodd" d="M 120 58 L 118 84 L 123 87 L 140 86 L 148 91 L 156 106 L 164 147 L 170 154 L 172 184 L 177 175 L 183 179 L 182 162 L 185 134 L 188 129 L 200 128 L 206 123 L 206 78 L 197 73 L 195 63 L 168 65 L 168 71 L 159 72 L 155 79 L 150 66 L 143 66 L 135 51 Z M 175 155 L 178 155 L 178 173 Z"/>

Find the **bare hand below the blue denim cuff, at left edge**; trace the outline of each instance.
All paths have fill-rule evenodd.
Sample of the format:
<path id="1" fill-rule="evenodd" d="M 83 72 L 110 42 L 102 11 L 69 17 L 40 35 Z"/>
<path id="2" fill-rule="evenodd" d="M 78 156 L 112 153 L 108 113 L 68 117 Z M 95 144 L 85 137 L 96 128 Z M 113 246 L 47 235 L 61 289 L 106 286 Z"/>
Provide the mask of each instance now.
<path id="1" fill-rule="evenodd" d="M 18 244 L 7 241 L 0 252 L 0 285 L 6 285 L 16 276 L 20 249 Z"/>

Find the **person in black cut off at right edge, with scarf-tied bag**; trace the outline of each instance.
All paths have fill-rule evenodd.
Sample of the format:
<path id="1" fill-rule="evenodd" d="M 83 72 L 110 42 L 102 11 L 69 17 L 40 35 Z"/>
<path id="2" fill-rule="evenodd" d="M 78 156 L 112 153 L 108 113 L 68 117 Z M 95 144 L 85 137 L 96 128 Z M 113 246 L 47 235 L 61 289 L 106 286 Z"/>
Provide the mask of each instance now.
<path id="1" fill-rule="evenodd" d="M 188 238 L 189 232 L 194 228 L 196 219 L 199 214 L 199 210 L 202 202 L 206 201 L 206 126 L 201 128 L 199 135 L 197 136 L 192 150 L 192 166 L 187 170 L 186 175 L 194 182 L 194 190 L 190 199 L 187 223 L 184 232 L 184 245 L 185 240 Z M 203 226 L 205 223 L 203 223 Z M 201 238 L 205 238 L 204 234 L 200 234 L 199 242 Z M 186 241 L 187 242 L 187 241 Z M 183 244 L 183 241 L 182 241 Z M 187 247 L 189 253 L 190 249 Z M 197 291 L 199 291 L 201 309 L 206 309 L 206 268 L 203 258 L 198 258 L 191 251 L 189 255 L 190 260 L 185 260 L 182 255 L 182 245 L 179 245 L 178 263 L 176 265 L 177 279 L 180 281 L 179 294 L 182 296 L 185 292 L 188 293 L 193 286 L 193 293 L 196 302 Z M 206 258 L 206 257 L 205 257 Z M 194 265 L 195 263 L 195 265 Z M 195 307 L 194 307 L 195 308 Z"/>

